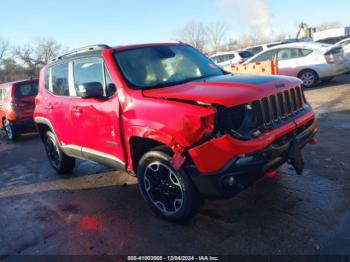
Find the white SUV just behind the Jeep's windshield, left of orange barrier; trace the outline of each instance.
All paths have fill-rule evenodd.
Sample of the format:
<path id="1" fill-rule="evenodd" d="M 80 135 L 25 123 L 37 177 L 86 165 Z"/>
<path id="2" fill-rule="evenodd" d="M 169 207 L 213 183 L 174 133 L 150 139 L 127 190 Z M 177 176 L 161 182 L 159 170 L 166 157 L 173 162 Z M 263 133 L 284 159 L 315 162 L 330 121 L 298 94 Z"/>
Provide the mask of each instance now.
<path id="1" fill-rule="evenodd" d="M 254 56 L 254 54 L 249 51 L 230 51 L 217 53 L 209 58 L 213 60 L 215 64 L 224 68 L 230 65 L 242 64 L 252 56 Z"/>

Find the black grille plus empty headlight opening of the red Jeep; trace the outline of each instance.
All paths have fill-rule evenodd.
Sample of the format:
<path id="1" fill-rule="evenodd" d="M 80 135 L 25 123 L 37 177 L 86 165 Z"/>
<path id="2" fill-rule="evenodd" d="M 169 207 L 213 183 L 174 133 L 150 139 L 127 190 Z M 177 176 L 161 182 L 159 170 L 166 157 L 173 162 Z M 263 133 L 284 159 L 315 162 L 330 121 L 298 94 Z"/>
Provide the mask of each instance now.
<path id="1" fill-rule="evenodd" d="M 298 114 L 305 104 L 302 87 L 295 87 L 248 104 L 221 108 L 216 124 L 220 133 L 251 139 Z"/>

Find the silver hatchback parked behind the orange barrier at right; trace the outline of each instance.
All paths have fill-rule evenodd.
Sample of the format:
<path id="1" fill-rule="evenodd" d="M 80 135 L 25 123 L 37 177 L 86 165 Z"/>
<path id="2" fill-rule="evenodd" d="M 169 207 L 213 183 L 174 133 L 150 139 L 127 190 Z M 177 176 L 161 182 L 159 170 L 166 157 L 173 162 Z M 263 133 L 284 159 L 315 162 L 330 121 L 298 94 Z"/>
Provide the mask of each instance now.
<path id="1" fill-rule="evenodd" d="M 278 61 L 278 74 L 299 77 L 305 87 L 329 81 L 348 71 L 343 49 L 313 42 L 285 44 L 270 48 L 246 63 Z"/>

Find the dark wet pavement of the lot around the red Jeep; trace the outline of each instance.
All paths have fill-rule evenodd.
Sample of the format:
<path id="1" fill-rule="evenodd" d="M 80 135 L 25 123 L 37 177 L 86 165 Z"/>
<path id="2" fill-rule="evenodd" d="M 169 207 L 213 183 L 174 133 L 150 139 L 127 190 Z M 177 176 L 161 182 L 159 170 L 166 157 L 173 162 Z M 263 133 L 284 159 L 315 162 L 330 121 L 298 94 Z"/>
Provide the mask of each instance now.
<path id="1" fill-rule="evenodd" d="M 133 177 L 79 161 L 60 177 L 37 135 L 0 138 L 0 259 L 24 254 L 350 255 L 350 75 L 306 91 L 319 143 L 188 225 L 153 215 Z"/>

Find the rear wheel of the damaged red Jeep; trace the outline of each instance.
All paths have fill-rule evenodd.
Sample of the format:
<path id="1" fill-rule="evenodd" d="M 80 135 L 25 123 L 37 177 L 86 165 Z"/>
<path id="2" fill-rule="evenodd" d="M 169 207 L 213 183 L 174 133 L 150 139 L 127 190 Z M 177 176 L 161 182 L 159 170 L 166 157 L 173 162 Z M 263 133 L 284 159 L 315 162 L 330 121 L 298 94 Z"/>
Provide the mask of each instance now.
<path id="1" fill-rule="evenodd" d="M 70 173 L 75 166 L 75 158 L 67 156 L 58 146 L 55 135 L 47 131 L 44 137 L 46 155 L 58 174 Z"/>

